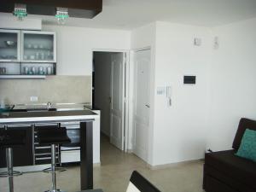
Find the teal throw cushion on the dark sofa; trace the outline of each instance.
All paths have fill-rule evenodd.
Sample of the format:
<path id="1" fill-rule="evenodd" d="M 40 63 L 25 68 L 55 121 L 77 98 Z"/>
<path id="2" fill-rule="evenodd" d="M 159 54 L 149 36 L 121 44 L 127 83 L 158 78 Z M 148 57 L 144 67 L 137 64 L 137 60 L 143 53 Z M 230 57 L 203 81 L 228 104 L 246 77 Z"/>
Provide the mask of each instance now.
<path id="1" fill-rule="evenodd" d="M 256 162 L 256 131 L 245 131 L 236 155 Z"/>

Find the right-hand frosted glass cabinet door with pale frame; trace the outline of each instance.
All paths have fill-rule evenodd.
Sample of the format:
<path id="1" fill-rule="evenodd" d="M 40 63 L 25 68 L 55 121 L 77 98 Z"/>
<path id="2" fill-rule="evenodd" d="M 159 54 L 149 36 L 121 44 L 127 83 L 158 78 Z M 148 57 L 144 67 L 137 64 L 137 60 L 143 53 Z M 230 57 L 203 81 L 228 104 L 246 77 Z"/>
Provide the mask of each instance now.
<path id="1" fill-rule="evenodd" d="M 55 32 L 22 32 L 22 61 L 56 62 Z"/>

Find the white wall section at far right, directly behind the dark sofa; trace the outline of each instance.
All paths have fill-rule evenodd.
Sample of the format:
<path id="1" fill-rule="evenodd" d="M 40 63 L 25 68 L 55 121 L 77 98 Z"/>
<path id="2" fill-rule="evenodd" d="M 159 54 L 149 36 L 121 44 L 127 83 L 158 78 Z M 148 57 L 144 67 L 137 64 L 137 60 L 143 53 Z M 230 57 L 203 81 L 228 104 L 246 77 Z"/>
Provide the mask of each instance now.
<path id="1" fill-rule="evenodd" d="M 241 117 L 256 119 L 256 18 L 218 26 L 212 49 L 207 147 L 229 149 Z"/>

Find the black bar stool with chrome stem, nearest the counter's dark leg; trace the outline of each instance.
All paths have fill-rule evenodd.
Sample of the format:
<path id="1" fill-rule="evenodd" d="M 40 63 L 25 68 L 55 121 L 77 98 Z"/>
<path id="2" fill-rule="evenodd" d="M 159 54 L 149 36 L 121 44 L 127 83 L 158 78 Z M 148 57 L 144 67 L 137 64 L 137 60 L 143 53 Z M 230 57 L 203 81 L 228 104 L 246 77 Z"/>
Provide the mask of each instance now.
<path id="1" fill-rule="evenodd" d="M 67 137 L 66 127 L 58 126 L 42 126 L 38 127 L 38 143 L 40 145 L 46 144 L 51 145 L 51 167 L 45 169 L 44 172 L 51 172 L 52 177 L 52 189 L 47 190 L 47 192 L 61 192 L 61 189 L 56 188 L 56 172 L 65 171 L 61 167 L 56 167 L 56 145 L 61 145 L 64 143 L 71 143 L 69 137 Z"/>

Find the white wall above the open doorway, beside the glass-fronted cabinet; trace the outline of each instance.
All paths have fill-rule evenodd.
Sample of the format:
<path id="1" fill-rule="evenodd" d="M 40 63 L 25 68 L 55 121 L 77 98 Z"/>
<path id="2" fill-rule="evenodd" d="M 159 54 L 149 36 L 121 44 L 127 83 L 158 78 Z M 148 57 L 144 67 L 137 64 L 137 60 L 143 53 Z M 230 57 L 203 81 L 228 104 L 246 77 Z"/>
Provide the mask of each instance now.
<path id="1" fill-rule="evenodd" d="M 73 26 L 43 26 L 57 32 L 57 75 L 91 75 L 92 51 L 130 49 L 131 32 Z"/>

